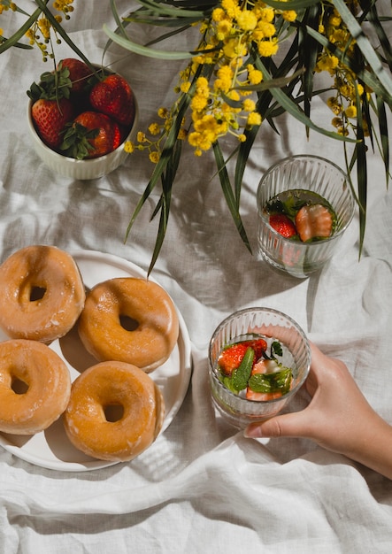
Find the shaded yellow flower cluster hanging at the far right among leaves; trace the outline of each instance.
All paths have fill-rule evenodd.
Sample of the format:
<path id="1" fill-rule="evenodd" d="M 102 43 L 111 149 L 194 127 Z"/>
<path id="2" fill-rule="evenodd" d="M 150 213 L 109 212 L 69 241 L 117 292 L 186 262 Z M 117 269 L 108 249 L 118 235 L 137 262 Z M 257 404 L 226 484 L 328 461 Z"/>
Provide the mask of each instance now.
<path id="1" fill-rule="evenodd" d="M 349 0 L 347 4 L 353 13 L 357 13 L 357 0 Z M 323 19 L 319 22 L 319 33 L 325 35 L 329 42 L 348 55 L 353 53 L 356 42 L 336 10 L 324 12 Z M 363 96 L 369 91 L 365 91 L 357 82 L 355 73 L 327 49 L 320 52 L 316 71 L 327 72 L 334 79 L 335 95 L 328 98 L 327 105 L 334 113 L 332 125 L 340 135 L 347 136 L 350 127 L 355 128 L 353 120 L 357 119 L 357 95 Z M 367 135 L 366 121 L 363 122 L 363 128 Z"/>

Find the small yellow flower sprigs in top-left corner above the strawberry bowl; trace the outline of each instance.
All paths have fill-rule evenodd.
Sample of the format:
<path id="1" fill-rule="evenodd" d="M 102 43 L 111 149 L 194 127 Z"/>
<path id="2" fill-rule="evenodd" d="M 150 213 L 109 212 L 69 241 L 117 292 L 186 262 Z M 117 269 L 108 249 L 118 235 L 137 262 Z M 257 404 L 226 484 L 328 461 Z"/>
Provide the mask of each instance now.
<path id="1" fill-rule="evenodd" d="M 73 12 L 73 0 L 55 0 L 53 8 L 58 12 L 55 16 L 58 23 L 61 23 L 63 16 L 65 19 L 70 19 L 70 13 Z M 11 10 L 12 12 L 19 11 L 17 4 L 10 0 L 0 0 L 0 15 L 3 12 Z M 26 12 L 23 12 L 26 13 Z M 56 30 L 50 25 L 50 21 L 42 14 L 32 27 L 27 30 L 26 37 L 31 46 L 37 46 L 42 51 L 43 61 L 48 58 L 53 58 L 53 50 L 51 48 L 51 33 L 56 37 L 56 42 L 60 42 Z M 4 35 L 3 29 L 0 29 L 0 36 Z M 50 44 L 50 50 L 48 50 Z"/>

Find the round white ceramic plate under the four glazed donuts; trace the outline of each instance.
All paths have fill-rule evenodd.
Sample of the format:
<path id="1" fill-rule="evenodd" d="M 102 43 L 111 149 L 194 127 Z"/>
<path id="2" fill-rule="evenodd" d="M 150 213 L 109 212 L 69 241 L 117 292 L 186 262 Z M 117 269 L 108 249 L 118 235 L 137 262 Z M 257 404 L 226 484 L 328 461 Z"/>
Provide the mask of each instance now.
<path id="1" fill-rule="evenodd" d="M 101 252 L 81 250 L 71 252 L 79 266 L 83 281 L 89 289 L 96 283 L 113 277 L 142 277 L 146 273 L 140 267 L 125 259 Z M 151 279 L 151 278 L 150 278 Z M 178 312 L 178 310 L 177 310 Z M 178 312 L 180 335 L 172 355 L 150 377 L 156 381 L 165 399 L 165 420 L 161 433 L 169 427 L 179 411 L 188 390 L 191 375 L 191 350 L 188 329 Z M 0 331 L 0 342 L 7 340 Z M 72 380 L 90 365 L 96 364 L 84 349 L 76 329 L 59 341 L 50 345 L 65 360 L 71 372 Z M 14 456 L 26 460 L 35 466 L 66 472 L 90 471 L 101 467 L 113 466 L 115 462 L 106 462 L 89 458 L 76 450 L 65 435 L 61 418 L 42 433 L 37 435 L 8 435 L 0 433 L 0 445 Z"/>

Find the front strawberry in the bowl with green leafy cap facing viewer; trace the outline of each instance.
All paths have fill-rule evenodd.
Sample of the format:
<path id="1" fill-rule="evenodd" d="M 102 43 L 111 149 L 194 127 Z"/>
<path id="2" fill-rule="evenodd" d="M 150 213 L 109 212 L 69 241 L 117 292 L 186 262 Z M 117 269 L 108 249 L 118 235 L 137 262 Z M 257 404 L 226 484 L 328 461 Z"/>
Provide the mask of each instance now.
<path id="1" fill-rule="evenodd" d="M 82 112 L 67 126 L 60 150 L 70 158 L 104 156 L 119 147 L 119 125 L 104 113 Z"/>

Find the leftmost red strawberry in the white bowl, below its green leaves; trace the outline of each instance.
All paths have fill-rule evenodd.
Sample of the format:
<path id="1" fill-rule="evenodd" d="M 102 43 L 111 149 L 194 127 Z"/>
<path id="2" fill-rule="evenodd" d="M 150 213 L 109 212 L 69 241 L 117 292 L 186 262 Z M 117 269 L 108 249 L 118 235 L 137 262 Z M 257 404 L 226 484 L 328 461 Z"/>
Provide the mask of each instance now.
<path id="1" fill-rule="evenodd" d="M 32 106 L 31 117 L 42 141 L 57 150 L 63 140 L 65 125 L 73 119 L 73 104 L 67 98 L 40 98 Z"/>

